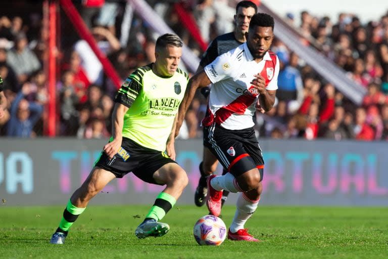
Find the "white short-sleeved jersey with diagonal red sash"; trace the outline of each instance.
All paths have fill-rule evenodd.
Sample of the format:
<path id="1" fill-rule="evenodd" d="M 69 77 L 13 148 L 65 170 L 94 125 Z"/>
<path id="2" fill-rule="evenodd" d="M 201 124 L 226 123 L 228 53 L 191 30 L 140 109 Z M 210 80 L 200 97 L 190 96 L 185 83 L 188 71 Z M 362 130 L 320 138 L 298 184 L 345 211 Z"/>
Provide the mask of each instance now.
<path id="1" fill-rule="evenodd" d="M 276 90 L 279 60 L 268 51 L 257 63 L 245 43 L 219 56 L 205 67 L 205 72 L 213 85 L 208 116 L 202 124 L 215 122 L 228 130 L 243 130 L 254 126 L 252 116 L 259 96 L 251 84 L 254 75 L 260 73 L 265 78 L 267 90 Z"/>

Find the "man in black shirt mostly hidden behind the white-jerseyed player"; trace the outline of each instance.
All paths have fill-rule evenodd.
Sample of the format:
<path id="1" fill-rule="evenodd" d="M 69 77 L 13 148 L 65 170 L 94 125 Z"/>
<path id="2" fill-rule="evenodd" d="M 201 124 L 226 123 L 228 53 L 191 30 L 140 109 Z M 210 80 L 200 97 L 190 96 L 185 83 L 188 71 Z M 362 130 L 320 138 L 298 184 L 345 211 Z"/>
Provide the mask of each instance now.
<path id="1" fill-rule="evenodd" d="M 224 54 L 247 41 L 246 32 L 249 29 L 249 22 L 254 14 L 257 13 L 257 6 L 251 1 L 241 1 L 236 6 L 236 14 L 234 15 L 234 31 L 216 37 L 208 49 L 202 56 L 200 65 L 197 72 L 202 70 L 205 66 L 212 63 L 218 56 Z M 207 98 L 210 93 L 210 88 L 205 87 L 201 89 L 201 93 Z M 205 132 L 204 136 L 208 134 Z M 216 161 L 215 163 L 213 161 Z M 204 144 L 203 160 L 200 163 L 201 178 L 198 183 L 194 202 L 197 206 L 201 207 L 205 204 L 205 197 L 207 194 L 206 179 L 213 174 L 218 165 L 218 160 L 215 159 L 212 152 L 206 148 Z M 222 175 L 225 175 L 227 170 L 224 168 Z M 229 192 L 224 190 L 222 193 L 222 205 L 226 201 Z"/>

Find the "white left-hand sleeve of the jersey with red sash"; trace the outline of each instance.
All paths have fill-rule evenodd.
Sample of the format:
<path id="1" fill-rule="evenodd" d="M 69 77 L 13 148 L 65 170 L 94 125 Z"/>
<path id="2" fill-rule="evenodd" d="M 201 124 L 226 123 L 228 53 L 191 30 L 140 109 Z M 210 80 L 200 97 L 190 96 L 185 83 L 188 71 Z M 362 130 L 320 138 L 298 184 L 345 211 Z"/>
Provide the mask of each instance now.
<path id="1" fill-rule="evenodd" d="M 207 65 L 204 70 L 212 83 L 216 83 L 230 77 L 231 56 L 229 53 L 218 56 L 212 63 Z"/>

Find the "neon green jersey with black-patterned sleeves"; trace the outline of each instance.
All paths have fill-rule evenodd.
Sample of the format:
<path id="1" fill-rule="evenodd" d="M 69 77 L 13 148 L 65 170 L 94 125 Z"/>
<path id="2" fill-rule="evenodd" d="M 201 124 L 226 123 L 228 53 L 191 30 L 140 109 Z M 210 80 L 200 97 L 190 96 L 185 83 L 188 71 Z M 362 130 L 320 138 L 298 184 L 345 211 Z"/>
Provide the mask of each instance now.
<path id="1" fill-rule="evenodd" d="M 152 65 L 130 74 L 115 102 L 129 107 L 124 115 L 123 137 L 143 147 L 165 151 L 188 75 L 178 68 L 173 76 L 160 77 L 154 74 Z"/>

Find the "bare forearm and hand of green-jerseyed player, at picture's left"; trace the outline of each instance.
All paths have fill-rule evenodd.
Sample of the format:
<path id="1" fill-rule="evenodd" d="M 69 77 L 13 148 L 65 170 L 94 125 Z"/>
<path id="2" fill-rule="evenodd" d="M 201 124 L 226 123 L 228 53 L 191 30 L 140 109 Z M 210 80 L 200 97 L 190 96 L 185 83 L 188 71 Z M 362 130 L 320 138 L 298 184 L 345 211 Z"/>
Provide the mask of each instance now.
<path id="1" fill-rule="evenodd" d="M 128 111 L 128 107 L 116 103 L 112 113 L 112 137 L 113 140 L 104 146 L 105 153 L 110 159 L 119 151 L 123 140 L 122 132 L 124 125 L 124 114 Z"/>

